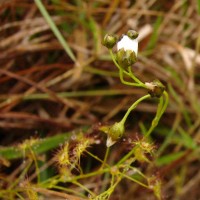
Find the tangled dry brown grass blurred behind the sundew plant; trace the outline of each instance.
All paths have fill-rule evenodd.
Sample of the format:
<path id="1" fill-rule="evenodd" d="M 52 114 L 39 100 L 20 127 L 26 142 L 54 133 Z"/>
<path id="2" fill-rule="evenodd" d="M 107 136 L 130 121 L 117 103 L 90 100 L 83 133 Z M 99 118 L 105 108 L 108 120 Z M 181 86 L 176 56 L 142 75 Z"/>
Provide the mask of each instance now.
<path id="1" fill-rule="evenodd" d="M 170 94 L 168 109 L 153 134 L 157 146 L 166 142 L 159 156 L 185 151 L 181 158 L 157 169 L 141 168 L 146 174 L 162 177 L 163 199 L 200 199 L 199 155 L 172 136 L 179 136 L 183 129 L 200 143 L 197 1 L 91 0 L 77 1 L 82 2 L 79 6 L 69 3 L 75 1 L 59 2 L 55 5 L 43 1 L 73 50 L 76 63 L 63 51 L 34 1 L 0 1 L 0 145 L 117 121 L 144 92 L 120 83 L 101 38 L 106 32 L 120 35 L 135 29 L 140 33 L 135 74 L 143 81 L 159 79 Z M 89 96 L 87 91 L 91 90 L 94 92 Z M 79 95 L 80 91 L 85 93 Z M 111 91 L 117 91 L 117 95 L 109 95 Z M 140 104 L 132 115 L 134 119 L 128 121 L 128 133 L 140 132 L 139 123 L 148 126 L 155 109 L 152 102 Z M 18 175 L 14 168 L 19 163 L 10 162 L 10 168 L 3 167 L 1 173 L 14 180 Z M 3 188 L 7 187 L 3 184 Z M 53 192 L 39 190 L 50 196 Z M 61 198 L 55 191 L 52 195 Z M 111 197 L 154 198 L 152 193 L 128 181 Z"/>

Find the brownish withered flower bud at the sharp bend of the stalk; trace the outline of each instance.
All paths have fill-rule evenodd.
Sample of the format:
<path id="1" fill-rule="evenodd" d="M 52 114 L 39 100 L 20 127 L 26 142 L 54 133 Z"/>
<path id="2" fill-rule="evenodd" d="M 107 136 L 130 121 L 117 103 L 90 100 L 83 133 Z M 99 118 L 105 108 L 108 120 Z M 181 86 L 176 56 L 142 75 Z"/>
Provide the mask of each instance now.
<path id="1" fill-rule="evenodd" d="M 147 86 L 148 92 L 151 95 L 151 97 L 161 97 L 164 90 L 165 86 L 159 81 L 159 80 L 154 80 L 153 82 L 150 83 L 145 83 Z"/>

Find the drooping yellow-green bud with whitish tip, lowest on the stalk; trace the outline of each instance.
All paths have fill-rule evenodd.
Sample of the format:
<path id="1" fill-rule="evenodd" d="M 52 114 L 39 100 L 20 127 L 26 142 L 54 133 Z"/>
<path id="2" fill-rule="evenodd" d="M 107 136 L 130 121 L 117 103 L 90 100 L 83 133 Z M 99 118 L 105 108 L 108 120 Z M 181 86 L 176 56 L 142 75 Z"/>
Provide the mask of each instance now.
<path id="1" fill-rule="evenodd" d="M 115 142 L 122 137 L 125 131 L 124 124 L 120 122 L 116 122 L 112 126 L 103 126 L 100 128 L 100 130 L 108 135 L 106 141 L 107 147 L 110 147 L 113 144 L 115 144 Z"/>

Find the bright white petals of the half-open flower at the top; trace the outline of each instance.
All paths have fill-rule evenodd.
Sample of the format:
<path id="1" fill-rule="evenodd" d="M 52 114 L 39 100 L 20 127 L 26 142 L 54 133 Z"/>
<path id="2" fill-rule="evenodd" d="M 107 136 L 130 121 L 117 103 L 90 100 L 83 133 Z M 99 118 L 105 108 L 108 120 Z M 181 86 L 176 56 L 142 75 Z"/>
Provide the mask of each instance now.
<path id="1" fill-rule="evenodd" d="M 137 56 L 138 53 L 138 40 L 136 39 L 131 39 L 127 35 L 123 35 L 121 40 L 117 43 L 117 50 L 119 51 L 120 49 L 126 50 L 131 50 L 135 53 Z"/>

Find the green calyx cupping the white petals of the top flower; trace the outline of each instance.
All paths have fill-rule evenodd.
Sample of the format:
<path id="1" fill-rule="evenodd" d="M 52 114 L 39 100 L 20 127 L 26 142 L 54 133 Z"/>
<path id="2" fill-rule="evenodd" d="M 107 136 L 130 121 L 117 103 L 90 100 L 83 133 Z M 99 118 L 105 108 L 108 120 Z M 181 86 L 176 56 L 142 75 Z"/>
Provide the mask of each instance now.
<path id="1" fill-rule="evenodd" d="M 137 57 L 134 51 L 120 49 L 117 51 L 116 60 L 122 68 L 126 69 L 137 61 Z"/>

